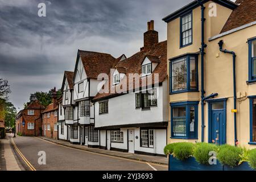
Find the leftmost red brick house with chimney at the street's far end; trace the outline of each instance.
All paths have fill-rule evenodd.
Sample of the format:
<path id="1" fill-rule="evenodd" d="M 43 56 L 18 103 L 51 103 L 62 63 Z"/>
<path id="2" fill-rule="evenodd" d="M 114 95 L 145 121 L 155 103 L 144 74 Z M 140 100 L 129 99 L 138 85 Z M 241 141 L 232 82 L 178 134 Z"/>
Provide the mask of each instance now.
<path id="1" fill-rule="evenodd" d="M 27 107 L 20 110 L 16 115 L 16 134 L 20 133 L 23 136 L 38 136 L 42 135 L 42 111 L 46 109 L 36 99 L 35 95 L 30 96 L 30 102 Z"/>

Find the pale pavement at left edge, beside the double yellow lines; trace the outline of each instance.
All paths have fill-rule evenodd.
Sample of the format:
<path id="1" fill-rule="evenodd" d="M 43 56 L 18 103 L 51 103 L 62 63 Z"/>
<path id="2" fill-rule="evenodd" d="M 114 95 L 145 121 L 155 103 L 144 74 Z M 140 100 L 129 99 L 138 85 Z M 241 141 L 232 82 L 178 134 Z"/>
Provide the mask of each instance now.
<path id="1" fill-rule="evenodd" d="M 0 171 L 21 171 L 10 146 L 9 134 L 0 139 Z"/>

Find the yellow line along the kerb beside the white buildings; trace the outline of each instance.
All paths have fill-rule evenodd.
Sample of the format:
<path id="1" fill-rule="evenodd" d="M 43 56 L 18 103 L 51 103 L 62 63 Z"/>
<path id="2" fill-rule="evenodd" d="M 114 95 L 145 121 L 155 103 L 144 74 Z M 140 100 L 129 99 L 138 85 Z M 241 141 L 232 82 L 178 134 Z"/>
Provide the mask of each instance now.
<path id="1" fill-rule="evenodd" d="M 85 151 L 85 150 L 81 150 L 81 149 L 79 149 L 79 148 L 73 148 L 73 147 L 63 146 L 62 144 L 54 143 L 54 142 L 51 142 L 51 141 L 48 141 L 48 140 L 45 140 L 45 139 L 42 139 L 42 138 L 39 138 L 39 137 L 34 137 L 34 138 L 43 140 L 44 142 L 48 142 L 48 143 L 51 143 L 51 144 L 55 144 L 56 146 L 61 146 L 61 147 L 64 147 L 64 148 L 70 148 L 70 149 L 73 149 L 73 150 L 78 150 L 78 151 L 82 151 L 82 152 L 87 152 L 87 153 L 90 153 L 90 154 L 106 156 L 106 157 L 108 157 L 108 158 L 115 158 L 115 159 L 121 159 L 121 160 L 128 160 L 128 161 L 131 161 L 131 162 L 149 164 L 149 163 L 147 163 L 147 162 L 142 162 L 142 161 L 138 161 L 138 160 L 135 160 L 135 159 L 134 159 L 134 160 L 133 160 L 133 159 L 125 159 L 125 158 L 121 158 L 121 157 L 117 157 L 117 156 L 111 156 L 111 155 L 99 154 L 99 153 L 91 152 L 91 151 Z M 164 165 L 164 164 L 155 164 L 155 163 L 151 163 L 151 165 L 168 168 L 168 166 L 167 166 L 167 165 Z"/>

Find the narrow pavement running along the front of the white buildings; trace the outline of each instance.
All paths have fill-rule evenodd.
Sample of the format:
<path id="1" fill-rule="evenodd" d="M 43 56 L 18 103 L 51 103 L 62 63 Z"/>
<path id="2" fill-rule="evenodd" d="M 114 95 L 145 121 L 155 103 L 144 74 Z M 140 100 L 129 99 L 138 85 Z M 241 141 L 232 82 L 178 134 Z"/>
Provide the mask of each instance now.
<path id="1" fill-rule="evenodd" d="M 143 162 L 168 165 L 168 159 L 166 157 L 162 157 L 162 156 L 130 154 L 127 152 L 104 150 L 104 149 L 100 149 L 100 148 L 89 148 L 87 146 L 81 146 L 79 144 L 71 144 L 71 143 L 65 142 L 63 140 L 56 140 L 56 139 L 47 138 L 47 137 L 38 137 L 38 138 L 48 140 L 50 142 L 57 143 L 62 146 L 77 148 L 80 150 L 95 152 L 95 153 L 99 153 L 99 154 L 112 155 L 112 156 L 118 156 L 118 157 L 126 158 L 126 159 L 135 159 L 135 160 L 140 160 Z"/>

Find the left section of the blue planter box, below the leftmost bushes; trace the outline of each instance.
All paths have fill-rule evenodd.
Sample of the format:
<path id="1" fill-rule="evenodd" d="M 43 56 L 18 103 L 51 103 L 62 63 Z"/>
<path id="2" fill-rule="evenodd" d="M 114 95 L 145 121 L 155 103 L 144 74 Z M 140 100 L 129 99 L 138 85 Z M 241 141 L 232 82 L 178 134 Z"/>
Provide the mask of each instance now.
<path id="1" fill-rule="evenodd" d="M 169 171 L 223 171 L 223 166 L 218 161 L 216 165 L 204 165 L 192 157 L 182 161 L 169 155 Z"/>

